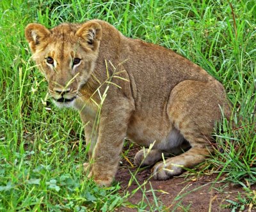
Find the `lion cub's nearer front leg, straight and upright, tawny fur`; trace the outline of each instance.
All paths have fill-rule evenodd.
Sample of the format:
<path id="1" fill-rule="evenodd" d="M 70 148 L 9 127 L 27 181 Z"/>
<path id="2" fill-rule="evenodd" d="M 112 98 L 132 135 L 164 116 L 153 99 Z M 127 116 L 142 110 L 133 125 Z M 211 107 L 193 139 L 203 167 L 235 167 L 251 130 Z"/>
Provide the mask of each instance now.
<path id="1" fill-rule="evenodd" d="M 99 135 L 92 153 L 92 169 L 88 176 L 93 177 L 98 185 L 108 186 L 115 178 L 130 116 L 128 102 L 119 102 L 119 105 L 109 109 L 102 108 Z"/>

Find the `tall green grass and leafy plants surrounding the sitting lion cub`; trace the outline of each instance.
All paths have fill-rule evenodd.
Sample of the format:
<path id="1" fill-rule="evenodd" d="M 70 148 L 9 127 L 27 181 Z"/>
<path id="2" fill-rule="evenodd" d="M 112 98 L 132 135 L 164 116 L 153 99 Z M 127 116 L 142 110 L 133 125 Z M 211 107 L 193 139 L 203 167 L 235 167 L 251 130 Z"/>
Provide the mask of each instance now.
<path id="1" fill-rule="evenodd" d="M 237 205 L 248 199 L 255 204 L 250 185 L 256 183 L 256 2 L 230 3 L 0 1 L 0 211 L 113 211 L 129 206 L 129 194 L 116 192 L 118 184 L 98 188 L 76 169 L 86 160 L 83 125 L 76 112 L 57 109 L 47 100 L 47 84 L 24 38 L 30 22 L 53 27 L 89 19 L 106 20 L 126 36 L 173 49 L 224 84 L 234 105 L 234 123 L 220 124 L 216 155 L 205 169 L 218 170 L 244 187 L 246 200 L 238 198 Z M 134 207 L 164 209 L 157 197 Z"/>

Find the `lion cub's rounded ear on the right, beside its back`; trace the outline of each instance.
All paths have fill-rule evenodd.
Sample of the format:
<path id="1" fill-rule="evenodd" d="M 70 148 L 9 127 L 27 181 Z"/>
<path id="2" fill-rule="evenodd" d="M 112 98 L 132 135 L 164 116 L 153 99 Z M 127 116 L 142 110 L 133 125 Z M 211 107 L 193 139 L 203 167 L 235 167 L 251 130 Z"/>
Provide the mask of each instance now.
<path id="1" fill-rule="evenodd" d="M 92 50 L 96 50 L 102 37 L 102 28 L 97 22 L 86 22 L 77 30 L 76 35 L 82 38 Z"/>

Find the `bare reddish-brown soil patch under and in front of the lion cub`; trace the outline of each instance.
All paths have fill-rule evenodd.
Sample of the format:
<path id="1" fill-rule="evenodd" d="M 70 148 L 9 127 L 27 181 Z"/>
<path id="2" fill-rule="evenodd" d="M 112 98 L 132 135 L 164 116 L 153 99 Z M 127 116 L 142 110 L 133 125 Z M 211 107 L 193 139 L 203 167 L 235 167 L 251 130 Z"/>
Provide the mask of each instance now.
<path id="1" fill-rule="evenodd" d="M 231 186 L 227 183 L 214 183 L 217 174 L 204 174 L 201 176 L 195 176 L 194 174 L 188 176 L 188 174 L 184 173 L 182 176 L 166 181 L 156 181 L 150 178 L 150 168 L 140 170 L 136 173 L 136 167 L 132 167 L 129 163 L 133 163 L 132 158 L 137 151 L 138 146 L 134 146 L 129 150 L 126 160 L 125 158 L 122 160 L 118 173 L 116 174 L 116 181 L 120 182 L 122 186 L 121 192 L 128 191 L 132 193 L 132 191 L 139 188 L 140 185 L 146 181 L 145 186 L 141 186 L 141 189 L 148 192 L 141 192 L 141 189 L 138 189 L 138 192 L 134 193 L 134 195 L 128 199 L 128 201 L 135 206 L 137 206 L 141 200 L 147 204 L 150 202 L 150 205 L 154 205 L 155 194 L 157 199 L 163 202 L 163 205 L 167 208 L 163 209 L 163 211 L 232 211 L 234 205 L 231 205 L 227 200 L 239 202 L 237 201 L 238 193 L 242 195 L 244 193 L 241 186 Z M 132 175 L 135 173 L 136 180 L 133 180 L 132 183 L 129 184 Z M 136 181 L 138 182 L 136 183 Z M 255 188 L 253 189 L 255 190 Z M 144 196 L 143 193 L 145 194 Z M 247 209 L 244 211 L 248 211 L 248 208 L 251 208 L 251 211 L 256 211 L 249 203 L 250 202 L 248 202 L 246 206 Z M 127 205 L 126 207 L 122 206 L 118 211 L 130 212 L 138 211 L 138 209 L 132 208 L 132 205 Z M 146 208 L 145 211 L 149 211 L 149 208 Z M 159 210 L 156 209 L 154 211 Z M 234 211 L 239 211 L 239 209 Z"/>

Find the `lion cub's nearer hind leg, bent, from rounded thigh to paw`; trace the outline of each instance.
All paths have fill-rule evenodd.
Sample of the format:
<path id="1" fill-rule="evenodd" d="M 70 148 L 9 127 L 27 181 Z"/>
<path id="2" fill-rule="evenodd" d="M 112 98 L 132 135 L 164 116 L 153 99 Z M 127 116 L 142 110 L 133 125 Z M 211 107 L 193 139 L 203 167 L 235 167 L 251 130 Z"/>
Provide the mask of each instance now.
<path id="1" fill-rule="evenodd" d="M 210 155 L 213 140 L 211 133 L 215 121 L 221 118 L 220 107 L 223 106 L 228 116 L 225 91 L 218 81 L 186 80 L 172 90 L 168 114 L 173 126 L 180 131 L 191 148 L 181 155 L 154 165 L 155 179 L 177 176 L 183 172 L 183 167 L 193 168 Z"/>

